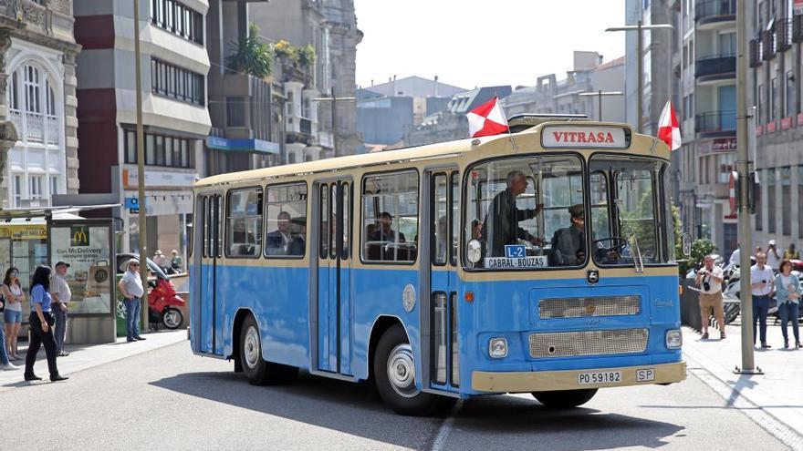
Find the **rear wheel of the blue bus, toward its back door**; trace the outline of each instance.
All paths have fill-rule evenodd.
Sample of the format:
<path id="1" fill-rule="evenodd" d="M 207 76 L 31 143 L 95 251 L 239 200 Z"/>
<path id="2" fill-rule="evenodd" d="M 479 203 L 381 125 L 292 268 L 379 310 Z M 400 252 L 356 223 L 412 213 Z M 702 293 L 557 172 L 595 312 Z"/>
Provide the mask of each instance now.
<path id="1" fill-rule="evenodd" d="M 298 368 L 267 362 L 262 358 L 259 326 L 248 315 L 240 330 L 240 364 L 248 382 L 253 385 L 289 384 L 296 379 Z"/>

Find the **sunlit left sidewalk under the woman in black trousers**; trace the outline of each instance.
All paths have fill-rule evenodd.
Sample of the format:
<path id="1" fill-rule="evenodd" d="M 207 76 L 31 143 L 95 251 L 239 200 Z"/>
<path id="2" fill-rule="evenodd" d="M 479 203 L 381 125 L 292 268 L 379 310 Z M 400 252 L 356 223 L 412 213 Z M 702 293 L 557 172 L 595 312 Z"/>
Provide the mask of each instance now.
<path id="1" fill-rule="evenodd" d="M 153 333 L 143 333 L 145 341 L 127 343 L 126 337 L 118 337 L 116 343 L 106 344 L 65 344 L 65 348 L 70 353 L 67 357 L 58 357 L 58 372 L 63 375 L 72 375 L 81 370 L 86 370 L 93 366 L 109 364 L 116 360 L 124 359 L 136 354 L 147 353 L 155 349 L 180 343 L 187 340 L 187 330 L 179 329 L 175 331 L 158 331 Z M 18 370 L 0 371 L 0 393 L 10 390 L 12 387 L 29 384 L 23 380 L 25 372 L 25 355 L 27 342 L 19 343 L 19 356 L 23 360 L 13 362 L 19 366 Z M 187 352 L 190 352 L 190 343 L 187 342 Z M 45 360 L 45 348 L 39 350 L 36 355 L 36 375 L 42 381 L 36 383 L 49 384 L 47 374 L 47 361 Z"/>

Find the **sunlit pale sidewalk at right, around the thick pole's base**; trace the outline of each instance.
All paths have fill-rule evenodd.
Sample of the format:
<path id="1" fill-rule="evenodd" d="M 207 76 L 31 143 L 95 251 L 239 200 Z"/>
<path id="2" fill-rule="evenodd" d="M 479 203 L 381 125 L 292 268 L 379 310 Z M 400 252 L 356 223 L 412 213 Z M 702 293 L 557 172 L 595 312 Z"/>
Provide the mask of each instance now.
<path id="1" fill-rule="evenodd" d="M 755 364 L 765 374 L 743 375 L 734 373 L 736 366 L 742 366 L 739 321 L 737 318 L 725 326 L 725 340 L 720 340 L 719 331 L 711 327 L 708 328 L 711 338 L 707 340 L 693 329 L 683 327 L 683 358 L 689 373 L 696 375 L 704 370 L 798 436 L 803 436 L 803 349 L 794 348 L 791 324 L 787 325 L 790 347 L 784 349 L 780 325 L 775 325 L 772 317 L 767 319 L 767 343 L 772 348 L 754 347 Z M 703 379 L 711 384 L 705 381 L 706 377 Z M 728 405 L 733 405 L 737 397 L 729 395 Z"/>

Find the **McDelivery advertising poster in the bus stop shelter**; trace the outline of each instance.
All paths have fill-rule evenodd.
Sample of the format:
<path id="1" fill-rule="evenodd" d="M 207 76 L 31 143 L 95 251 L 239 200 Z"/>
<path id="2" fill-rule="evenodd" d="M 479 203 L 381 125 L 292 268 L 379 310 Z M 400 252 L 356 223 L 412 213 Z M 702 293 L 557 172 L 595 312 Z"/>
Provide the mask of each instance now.
<path id="1" fill-rule="evenodd" d="M 50 267 L 69 264 L 67 283 L 72 292 L 69 313 L 110 314 L 114 265 L 111 226 L 72 223 L 50 229 Z"/>

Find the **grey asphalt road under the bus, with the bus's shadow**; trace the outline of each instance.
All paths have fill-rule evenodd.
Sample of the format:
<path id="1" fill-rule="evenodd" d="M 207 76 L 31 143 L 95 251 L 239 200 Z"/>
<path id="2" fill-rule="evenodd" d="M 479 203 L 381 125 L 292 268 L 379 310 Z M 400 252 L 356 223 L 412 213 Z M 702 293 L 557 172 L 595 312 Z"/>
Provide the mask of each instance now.
<path id="1" fill-rule="evenodd" d="M 68 358 L 68 357 L 67 357 Z M 365 387 L 302 375 L 255 387 L 186 342 L 0 394 L 6 449 L 787 449 L 694 376 L 616 388 L 586 406 L 528 395 L 472 399 L 454 417 L 411 418 Z M 60 417 L 58 422 L 54 419 Z M 30 433 L 42 424 L 47 432 Z M 31 440 L 34 440 L 33 442 Z"/>

